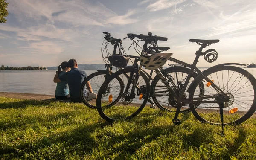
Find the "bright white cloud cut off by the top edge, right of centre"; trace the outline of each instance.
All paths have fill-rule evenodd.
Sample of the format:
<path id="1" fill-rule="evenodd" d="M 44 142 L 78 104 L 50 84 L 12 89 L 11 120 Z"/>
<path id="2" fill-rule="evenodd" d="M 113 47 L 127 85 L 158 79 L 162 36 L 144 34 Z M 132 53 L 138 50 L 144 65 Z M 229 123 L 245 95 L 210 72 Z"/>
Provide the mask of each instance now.
<path id="1" fill-rule="evenodd" d="M 159 0 L 153 4 L 147 6 L 150 11 L 160 11 L 163 9 L 168 9 L 180 3 L 184 3 L 186 0 Z"/>

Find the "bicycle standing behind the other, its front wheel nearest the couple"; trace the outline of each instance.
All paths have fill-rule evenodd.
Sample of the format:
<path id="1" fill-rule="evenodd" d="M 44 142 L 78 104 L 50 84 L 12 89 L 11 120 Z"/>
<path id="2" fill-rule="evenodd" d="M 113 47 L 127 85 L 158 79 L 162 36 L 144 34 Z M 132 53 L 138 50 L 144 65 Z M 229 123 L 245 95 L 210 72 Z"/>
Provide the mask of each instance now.
<path id="1" fill-rule="evenodd" d="M 108 33 L 108 32 L 103 32 L 105 35 L 105 40 L 107 40 L 106 43 L 108 44 L 112 44 L 114 45 L 114 49 L 113 49 L 113 53 L 112 55 L 118 55 L 116 54 L 116 49 L 117 47 L 119 48 L 119 55 L 122 55 L 122 52 L 121 50 L 123 51 L 124 53 L 124 49 L 122 47 L 122 42 L 120 39 L 115 39 L 113 37 L 111 37 L 111 34 Z M 149 33 L 149 35 L 152 35 L 151 33 Z M 138 42 L 138 41 L 137 41 Z M 135 42 L 135 43 L 137 43 Z M 146 42 L 146 41 L 145 41 Z M 104 42 L 103 42 L 104 43 Z M 102 43 L 102 46 L 103 46 L 103 43 Z M 110 53 L 108 52 L 108 44 L 105 44 L 105 47 L 103 49 L 103 52 L 104 50 L 106 51 L 108 57 L 111 56 Z M 120 45 L 120 47 L 119 47 Z M 147 45 L 147 42 L 144 44 L 143 47 L 145 47 L 145 45 Z M 131 45 L 132 46 L 132 45 Z M 130 46 L 130 47 L 131 47 Z M 157 46 L 157 47 L 156 47 Z M 129 48 L 130 48 L 129 47 Z M 137 47 L 136 47 L 137 48 Z M 146 47 L 147 48 L 147 47 Z M 135 47 L 134 47 L 135 49 Z M 167 51 L 169 50 L 170 47 L 158 47 L 157 45 L 157 41 L 156 43 L 154 44 L 153 47 L 148 47 L 147 49 L 145 49 L 147 52 L 149 53 L 152 53 L 152 54 L 156 54 L 156 53 L 160 53 L 160 52 L 163 52 L 163 51 Z M 103 57 L 103 52 L 102 52 L 102 57 Z M 133 55 L 128 55 L 129 58 L 139 58 L 139 56 L 133 56 Z M 109 64 L 108 61 L 103 57 L 103 60 L 105 61 L 105 67 L 106 67 L 106 70 L 98 70 L 97 72 L 95 73 L 92 73 L 90 76 L 88 76 L 86 79 L 84 79 L 83 83 L 81 84 L 81 87 L 80 87 L 80 96 L 81 96 L 81 99 L 82 101 L 84 102 L 85 105 L 87 105 L 88 107 L 90 108 L 96 108 L 96 103 L 92 100 L 92 101 L 87 101 L 87 99 L 84 98 L 84 90 L 86 89 L 86 83 L 88 81 L 92 81 L 94 86 L 92 87 L 93 88 L 93 92 L 94 93 L 97 93 L 98 90 L 99 90 L 99 87 L 101 86 L 101 83 L 103 83 L 103 81 L 105 81 L 105 79 L 108 78 L 108 76 L 110 76 L 112 72 L 112 68 L 113 68 L 113 65 L 112 64 Z M 124 67 L 124 66 L 122 66 Z M 117 67 L 117 69 L 121 70 L 122 67 Z M 160 67 L 159 68 L 160 71 L 163 73 L 163 75 L 169 79 L 169 81 L 171 81 L 170 79 L 172 78 L 172 76 L 170 74 L 172 73 L 175 73 L 176 74 L 176 79 L 178 81 L 178 77 L 177 75 L 183 75 L 183 74 L 188 74 L 189 73 L 189 69 L 188 68 L 185 68 L 185 67 L 180 67 L 180 66 L 177 66 L 177 67 L 171 67 L 171 68 L 167 68 L 167 69 L 163 69 L 163 67 Z M 153 74 L 153 70 L 151 70 L 151 73 L 148 74 L 145 70 L 142 70 L 148 77 L 150 80 L 152 80 L 152 83 L 151 83 L 151 88 L 153 88 L 153 90 L 155 90 L 155 88 L 159 87 L 159 91 L 157 91 L 156 93 L 154 93 L 153 95 L 151 94 L 150 96 L 152 96 L 152 100 L 151 99 L 148 99 L 148 102 L 151 104 L 151 108 L 155 108 L 155 104 L 158 108 L 160 108 L 161 110 L 167 110 L 167 111 L 175 111 L 176 108 L 177 108 L 177 104 L 175 102 L 173 102 L 173 100 L 167 100 L 166 102 L 170 103 L 171 106 L 167 106 L 166 105 L 166 102 L 163 102 L 163 98 L 160 98 L 160 99 L 157 99 L 158 97 L 161 97 L 161 95 L 159 93 L 165 93 L 167 92 L 168 90 L 163 90 L 163 85 L 157 85 L 158 84 L 158 81 L 160 80 L 160 77 L 159 76 L 155 76 L 154 79 L 151 77 L 152 74 Z M 195 78 L 197 76 L 197 73 L 193 73 L 193 78 Z M 126 75 L 127 77 L 127 75 Z M 175 78 L 175 76 L 174 76 Z M 181 77 L 182 78 L 182 77 Z M 177 84 L 172 84 L 172 86 L 177 86 Z M 204 86 L 202 86 L 203 88 Z M 104 95 L 108 95 L 109 93 L 109 88 L 105 90 L 104 92 Z M 152 91 L 153 91 L 152 90 Z M 157 90 L 157 89 L 156 89 Z M 151 93 L 152 93 L 151 91 Z M 189 112 L 189 108 L 186 107 L 186 108 L 183 108 L 181 113 L 186 113 L 186 112 Z"/>

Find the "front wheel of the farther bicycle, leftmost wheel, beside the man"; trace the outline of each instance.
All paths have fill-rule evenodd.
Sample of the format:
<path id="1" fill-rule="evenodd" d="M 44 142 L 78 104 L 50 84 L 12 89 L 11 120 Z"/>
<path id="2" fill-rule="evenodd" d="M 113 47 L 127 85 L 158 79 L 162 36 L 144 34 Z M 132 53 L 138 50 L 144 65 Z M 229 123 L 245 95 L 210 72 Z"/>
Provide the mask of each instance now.
<path id="1" fill-rule="evenodd" d="M 112 74 L 113 74 L 113 72 L 112 72 Z M 95 73 L 90 74 L 89 76 L 87 76 L 84 79 L 84 81 L 80 87 L 80 97 L 81 97 L 81 100 L 83 101 L 84 105 L 86 105 L 90 108 L 94 108 L 94 109 L 97 108 L 96 107 L 96 99 L 92 99 L 92 100 L 88 101 L 84 96 L 84 94 L 89 93 L 89 91 L 87 90 L 86 84 L 89 81 L 90 85 L 92 87 L 93 93 L 98 94 L 99 88 L 101 87 L 102 83 L 105 81 L 106 75 L 108 75 L 107 70 L 99 70 Z M 119 85 L 124 85 L 122 79 L 120 79 L 119 77 L 116 77 L 116 83 L 119 83 Z M 120 90 L 119 97 L 122 95 L 122 92 L 123 92 L 123 90 Z M 108 95 L 108 90 L 105 90 L 104 95 L 105 96 Z"/>

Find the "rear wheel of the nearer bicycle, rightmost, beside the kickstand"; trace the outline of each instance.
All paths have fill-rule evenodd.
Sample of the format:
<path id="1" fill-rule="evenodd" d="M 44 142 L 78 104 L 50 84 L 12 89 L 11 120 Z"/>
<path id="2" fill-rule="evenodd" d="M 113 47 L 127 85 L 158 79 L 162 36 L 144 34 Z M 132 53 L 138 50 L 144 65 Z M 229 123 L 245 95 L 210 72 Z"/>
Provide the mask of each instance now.
<path id="1" fill-rule="evenodd" d="M 224 102 L 224 125 L 238 125 L 250 118 L 256 111 L 256 79 L 246 70 L 234 66 L 221 66 L 204 72 L 224 93 L 229 101 Z M 204 81 L 203 81 L 204 80 Z M 211 82 L 212 82 L 211 81 Z M 190 109 L 201 122 L 221 125 L 220 107 L 213 103 L 223 99 L 223 94 L 217 91 L 203 76 L 195 79 L 189 93 L 189 100 L 204 101 L 199 105 L 190 104 Z M 204 84 L 204 96 L 199 93 L 198 83 Z M 207 99 L 208 97 L 208 99 Z"/>

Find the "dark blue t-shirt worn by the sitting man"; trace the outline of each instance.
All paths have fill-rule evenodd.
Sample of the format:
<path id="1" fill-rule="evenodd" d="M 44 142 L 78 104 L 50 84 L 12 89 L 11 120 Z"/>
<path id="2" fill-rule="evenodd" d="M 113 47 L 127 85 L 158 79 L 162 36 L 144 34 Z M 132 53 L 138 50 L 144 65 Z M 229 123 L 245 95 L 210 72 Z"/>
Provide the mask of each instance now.
<path id="1" fill-rule="evenodd" d="M 62 76 L 59 76 L 59 79 L 61 81 L 67 81 L 70 90 L 70 98 L 76 99 L 80 98 L 80 86 L 86 77 L 87 74 L 83 70 L 71 68 L 70 71 L 66 72 Z"/>

